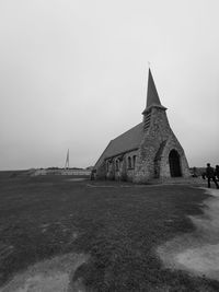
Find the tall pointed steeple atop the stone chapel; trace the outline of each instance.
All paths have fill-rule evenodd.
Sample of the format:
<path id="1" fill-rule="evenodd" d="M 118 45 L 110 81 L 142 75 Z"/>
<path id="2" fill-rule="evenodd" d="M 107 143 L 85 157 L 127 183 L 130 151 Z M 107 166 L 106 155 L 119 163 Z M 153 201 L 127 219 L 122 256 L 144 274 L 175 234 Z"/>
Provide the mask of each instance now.
<path id="1" fill-rule="evenodd" d="M 146 105 L 146 109 L 143 110 L 143 113 L 147 112 L 152 106 L 157 106 L 157 107 L 166 109 L 164 106 L 161 105 L 161 102 L 160 102 L 160 98 L 159 98 L 159 95 L 158 95 L 158 91 L 155 89 L 155 84 L 154 84 L 154 81 L 153 81 L 153 77 L 152 77 L 151 70 L 149 68 L 147 105 Z"/>

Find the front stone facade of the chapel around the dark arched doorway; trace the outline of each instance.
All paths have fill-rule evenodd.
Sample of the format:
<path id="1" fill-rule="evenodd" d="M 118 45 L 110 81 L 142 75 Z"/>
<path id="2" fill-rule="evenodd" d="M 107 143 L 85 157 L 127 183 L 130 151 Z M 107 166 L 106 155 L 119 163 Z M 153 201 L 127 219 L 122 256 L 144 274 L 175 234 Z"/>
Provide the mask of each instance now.
<path id="1" fill-rule="evenodd" d="M 147 120 L 146 117 L 143 120 Z M 169 154 L 173 149 L 180 154 L 182 175 L 188 176 L 189 170 L 183 148 L 169 125 L 165 109 L 151 108 L 150 126 L 145 128 L 134 182 L 147 183 L 152 178 L 170 177 Z"/>

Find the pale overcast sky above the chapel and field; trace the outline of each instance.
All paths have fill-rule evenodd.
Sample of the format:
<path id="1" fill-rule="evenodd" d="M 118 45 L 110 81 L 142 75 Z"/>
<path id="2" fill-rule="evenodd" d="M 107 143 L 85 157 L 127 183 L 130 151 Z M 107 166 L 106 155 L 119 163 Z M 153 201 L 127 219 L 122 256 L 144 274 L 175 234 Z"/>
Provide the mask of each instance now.
<path id="1" fill-rule="evenodd" d="M 0 170 L 93 165 L 148 61 L 189 166 L 219 164 L 218 0 L 0 0 Z"/>

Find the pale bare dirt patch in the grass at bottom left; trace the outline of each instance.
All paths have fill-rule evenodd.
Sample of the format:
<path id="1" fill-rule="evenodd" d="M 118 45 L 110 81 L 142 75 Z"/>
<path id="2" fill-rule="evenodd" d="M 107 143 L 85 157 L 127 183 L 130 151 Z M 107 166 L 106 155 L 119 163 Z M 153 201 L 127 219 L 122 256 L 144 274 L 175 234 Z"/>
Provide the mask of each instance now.
<path id="1" fill-rule="evenodd" d="M 14 278 L 0 292 L 71 292 L 76 269 L 88 260 L 84 255 L 67 254 L 37 262 Z"/>

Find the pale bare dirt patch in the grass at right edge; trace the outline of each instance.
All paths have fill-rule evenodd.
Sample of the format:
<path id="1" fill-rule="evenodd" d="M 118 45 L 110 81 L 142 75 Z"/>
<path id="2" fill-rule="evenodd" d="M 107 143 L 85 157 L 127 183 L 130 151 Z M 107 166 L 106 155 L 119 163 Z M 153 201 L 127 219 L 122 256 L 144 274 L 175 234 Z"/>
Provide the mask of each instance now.
<path id="1" fill-rule="evenodd" d="M 219 190 L 204 188 L 212 197 L 201 205 L 204 214 L 189 217 L 196 226 L 158 248 L 165 267 L 219 280 Z"/>

